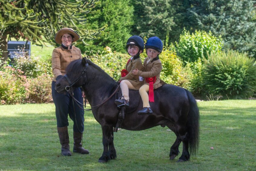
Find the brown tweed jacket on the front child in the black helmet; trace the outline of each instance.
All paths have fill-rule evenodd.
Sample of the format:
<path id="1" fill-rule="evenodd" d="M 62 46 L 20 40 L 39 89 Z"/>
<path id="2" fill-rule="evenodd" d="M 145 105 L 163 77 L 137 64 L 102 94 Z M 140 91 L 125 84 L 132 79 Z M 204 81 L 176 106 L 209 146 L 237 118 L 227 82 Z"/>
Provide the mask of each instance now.
<path id="1" fill-rule="evenodd" d="M 139 70 L 143 70 L 144 67 L 142 65 L 142 62 L 140 60 L 140 58 L 131 60 L 125 67 L 125 69 L 129 72 L 125 77 L 121 77 L 120 81 L 126 79 L 128 81 L 130 81 L 130 83 L 138 90 L 143 81 L 139 81 L 139 76 L 138 75 L 133 75 L 132 71 L 133 69 L 138 68 Z"/>

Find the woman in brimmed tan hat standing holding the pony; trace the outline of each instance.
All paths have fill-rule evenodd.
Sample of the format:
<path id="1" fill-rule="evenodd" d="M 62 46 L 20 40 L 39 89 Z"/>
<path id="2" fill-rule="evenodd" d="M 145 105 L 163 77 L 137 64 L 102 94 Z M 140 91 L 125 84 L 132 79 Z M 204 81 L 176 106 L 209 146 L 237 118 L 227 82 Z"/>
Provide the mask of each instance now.
<path id="1" fill-rule="evenodd" d="M 88 154 L 89 151 L 82 147 L 82 137 L 84 131 L 84 110 L 80 109 L 76 103 L 73 106 L 72 97 L 66 94 L 60 94 L 55 90 L 56 80 L 64 77 L 67 65 L 76 59 L 82 59 L 81 51 L 72 45 L 80 36 L 70 28 L 64 28 L 55 35 L 55 42 L 61 44 L 52 52 L 52 72 L 54 75 L 51 89 L 52 98 L 55 104 L 55 113 L 57 118 L 57 130 L 61 143 L 61 154 L 63 156 L 71 156 L 69 150 L 69 136 L 67 131 L 68 118 L 73 120 L 74 148 L 73 152 Z M 74 97 L 83 103 L 82 92 L 80 88 L 74 88 Z M 83 107 L 81 105 L 81 107 Z"/>

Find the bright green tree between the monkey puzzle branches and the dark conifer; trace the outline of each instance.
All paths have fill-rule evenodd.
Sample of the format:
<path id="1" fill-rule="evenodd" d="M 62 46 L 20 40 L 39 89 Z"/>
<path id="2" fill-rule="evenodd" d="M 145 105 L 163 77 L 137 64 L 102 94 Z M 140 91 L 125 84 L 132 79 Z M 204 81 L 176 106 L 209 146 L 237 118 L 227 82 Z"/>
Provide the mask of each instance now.
<path id="1" fill-rule="evenodd" d="M 104 32 L 97 39 L 87 42 L 88 46 L 78 46 L 86 55 L 101 54 L 108 46 L 113 51 L 126 52 L 126 41 L 130 37 L 133 25 L 133 6 L 130 0 L 100 0 L 94 11 L 89 13 L 89 26 L 94 29 L 107 25 Z"/>

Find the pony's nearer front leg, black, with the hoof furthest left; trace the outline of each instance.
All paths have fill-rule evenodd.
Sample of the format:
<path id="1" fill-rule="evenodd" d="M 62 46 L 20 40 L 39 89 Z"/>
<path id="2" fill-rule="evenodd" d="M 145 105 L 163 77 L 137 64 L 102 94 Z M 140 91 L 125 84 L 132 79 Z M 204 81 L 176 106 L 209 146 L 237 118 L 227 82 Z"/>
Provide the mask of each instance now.
<path id="1" fill-rule="evenodd" d="M 109 147 L 113 146 L 113 127 L 110 125 L 102 125 L 102 143 L 103 143 L 103 154 L 99 158 L 100 163 L 105 163 L 111 159 Z M 110 143 L 112 141 L 112 144 Z"/>

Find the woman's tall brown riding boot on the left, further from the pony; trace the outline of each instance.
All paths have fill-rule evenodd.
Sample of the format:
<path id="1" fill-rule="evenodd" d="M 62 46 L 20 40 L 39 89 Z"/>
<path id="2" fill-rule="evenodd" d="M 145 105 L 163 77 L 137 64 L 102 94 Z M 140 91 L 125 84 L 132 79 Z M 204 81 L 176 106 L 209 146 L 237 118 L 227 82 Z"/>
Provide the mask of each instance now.
<path id="1" fill-rule="evenodd" d="M 71 152 L 69 150 L 69 137 L 67 126 L 64 127 L 57 127 L 60 143 L 61 143 L 61 154 L 63 156 L 71 156 Z"/>

